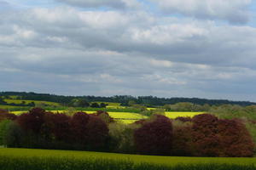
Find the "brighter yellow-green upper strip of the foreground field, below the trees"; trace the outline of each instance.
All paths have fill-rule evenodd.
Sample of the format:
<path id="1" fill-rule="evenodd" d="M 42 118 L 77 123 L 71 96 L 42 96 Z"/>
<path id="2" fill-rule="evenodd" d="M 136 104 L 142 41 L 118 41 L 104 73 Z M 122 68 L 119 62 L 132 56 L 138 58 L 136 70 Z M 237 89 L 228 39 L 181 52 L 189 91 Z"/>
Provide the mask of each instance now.
<path id="1" fill-rule="evenodd" d="M 116 161 L 134 161 L 135 163 L 148 162 L 160 165 L 175 166 L 180 164 L 203 164 L 203 163 L 223 163 L 248 165 L 256 164 L 256 158 L 231 158 L 231 157 L 177 157 L 177 156 L 140 156 L 128 154 L 114 154 L 92 151 L 72 151 L 72 150 L 33 150 L 33 149 L 10 149 L 1 148 L 0 156 L 31 157 L 31 158 L 62 158 L 73 157 L 78 160 L 88 158 L 100 158 Z"/>

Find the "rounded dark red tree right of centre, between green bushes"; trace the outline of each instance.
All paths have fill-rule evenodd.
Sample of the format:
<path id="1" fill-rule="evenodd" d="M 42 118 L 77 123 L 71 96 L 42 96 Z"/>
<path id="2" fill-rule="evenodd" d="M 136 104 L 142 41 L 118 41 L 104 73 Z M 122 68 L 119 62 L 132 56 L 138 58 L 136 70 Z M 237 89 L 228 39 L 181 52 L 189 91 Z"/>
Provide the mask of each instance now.
<path id="1" fill-rule="evenodd" d="M 150 122 L 135 130 L 137 152 L 149 155 L 170 155 L 172 152 L 172 122 L 166 116 L 156 115 Z"/>

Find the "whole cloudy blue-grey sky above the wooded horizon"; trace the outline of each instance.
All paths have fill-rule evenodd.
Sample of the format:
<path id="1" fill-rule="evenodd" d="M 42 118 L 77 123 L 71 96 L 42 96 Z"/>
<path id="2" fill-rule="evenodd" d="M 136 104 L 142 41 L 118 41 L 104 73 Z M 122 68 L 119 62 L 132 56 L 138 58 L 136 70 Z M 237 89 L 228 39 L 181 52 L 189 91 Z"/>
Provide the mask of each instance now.
<path id="1" fill-rule="evenodd" d="M 256 101 L 256 1 L 0 0 L 0 91 Z"/>

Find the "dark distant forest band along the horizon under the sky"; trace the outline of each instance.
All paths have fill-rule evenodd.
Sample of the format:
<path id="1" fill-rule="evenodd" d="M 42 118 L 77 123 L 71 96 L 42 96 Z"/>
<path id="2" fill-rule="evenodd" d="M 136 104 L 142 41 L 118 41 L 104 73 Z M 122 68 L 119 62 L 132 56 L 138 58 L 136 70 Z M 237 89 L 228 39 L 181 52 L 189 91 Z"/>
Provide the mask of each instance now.
<path id="1" fill-rule="evenodd" d="M 227 99 L 198 99 L 198 98 L 158 98 L 154 96 L 138 96 L 133 97 L 131 95 L 115 95 L 112 97 L 102 96 L 64 96 L 55 94 L 36 94 L 26 92 L 0 92 L 0 96 L 8 99 L 9 96 L 18 96 L 19 99 L 29 100 L 43 100 L 61 103 L 62 105 L 68 105 L 73 99 L 85 99 L 88 102 L 101 101 L 101 102 L 116 102 L 121 105 L 128 105 L 129 101 L 133 101 L 136 104 L 147 106 L 160 106 L 160 105 L 173 105 L 180 102 L 190 102 L 195 105 L 256 105 L 254 102 L 249 101 L 231 101 Z"/>

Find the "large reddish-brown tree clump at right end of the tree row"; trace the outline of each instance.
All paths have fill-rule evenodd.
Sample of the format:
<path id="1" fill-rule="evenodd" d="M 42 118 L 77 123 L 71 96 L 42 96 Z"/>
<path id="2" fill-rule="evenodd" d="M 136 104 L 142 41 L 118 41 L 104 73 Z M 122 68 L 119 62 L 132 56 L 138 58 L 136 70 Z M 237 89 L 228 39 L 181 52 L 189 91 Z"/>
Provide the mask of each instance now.
<path id="1" fill-rule="evenodd" d="M 253 156 L 253 139 L 245 125 L 238 120 L 218 120 L 202 114 L 193 122 L 194 156 Z"/>

